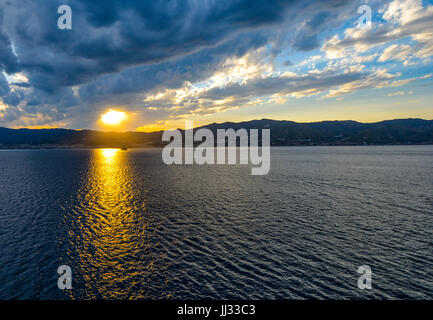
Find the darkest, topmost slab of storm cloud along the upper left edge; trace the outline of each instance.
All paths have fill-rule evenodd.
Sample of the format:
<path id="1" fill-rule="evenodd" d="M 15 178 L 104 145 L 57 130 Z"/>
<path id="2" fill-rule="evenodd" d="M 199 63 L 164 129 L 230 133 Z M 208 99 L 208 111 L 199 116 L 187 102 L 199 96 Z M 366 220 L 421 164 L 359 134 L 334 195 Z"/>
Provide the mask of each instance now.
<path id="1" fill-rule="evenodd" d="M 59 30 L 59 1 L 6 5 L 7 30 L 32 84 L 52 91 L 124 68 L 175 59 L 239 32 L 277 23 L 293 1 L 71 1 L 73 29 Z M 17 69 L 0 34 L 2 68 Z M 3 58 L 4 56 L 4 58 Z"/>

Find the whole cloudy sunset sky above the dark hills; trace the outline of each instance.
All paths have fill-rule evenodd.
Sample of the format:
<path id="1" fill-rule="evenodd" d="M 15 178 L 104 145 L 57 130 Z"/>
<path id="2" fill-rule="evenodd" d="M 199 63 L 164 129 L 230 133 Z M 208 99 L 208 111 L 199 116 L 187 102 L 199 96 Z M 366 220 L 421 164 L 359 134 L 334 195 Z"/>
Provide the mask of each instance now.
<path id="1" fill-rule="evenodd" d="M 0 0 L 0 126 L 433 119 L 432 56 L 432 1 Z"/>

